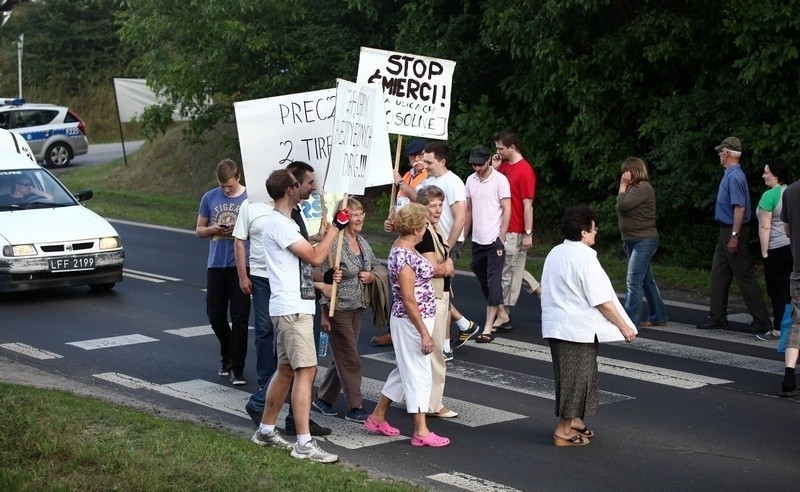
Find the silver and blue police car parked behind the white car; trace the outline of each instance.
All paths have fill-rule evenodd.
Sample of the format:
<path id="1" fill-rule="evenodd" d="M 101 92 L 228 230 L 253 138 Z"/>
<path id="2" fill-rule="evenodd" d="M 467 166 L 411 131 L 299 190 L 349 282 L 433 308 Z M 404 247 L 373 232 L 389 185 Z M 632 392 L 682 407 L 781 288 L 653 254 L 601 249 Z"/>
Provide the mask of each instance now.
<path id="1" fill-rule="evenodd" d="M 65 106 L 0 99 L 0 128 L 22 135 L 36 160 L 48 166 L 68 166 L 89 151 L 86 123 Z"/>

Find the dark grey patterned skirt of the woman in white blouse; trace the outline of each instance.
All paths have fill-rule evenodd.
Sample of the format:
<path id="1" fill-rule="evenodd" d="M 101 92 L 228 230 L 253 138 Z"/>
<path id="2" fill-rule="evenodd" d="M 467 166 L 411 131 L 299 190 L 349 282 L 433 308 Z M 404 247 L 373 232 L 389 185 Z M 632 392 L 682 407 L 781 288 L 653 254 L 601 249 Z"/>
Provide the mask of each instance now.
<path id="1" fill-rule="evenodd" d="M 548 338 L 556 381 L 556 416 L 584 418 L 597 413 L 597 338 L 577 343 Z"/>

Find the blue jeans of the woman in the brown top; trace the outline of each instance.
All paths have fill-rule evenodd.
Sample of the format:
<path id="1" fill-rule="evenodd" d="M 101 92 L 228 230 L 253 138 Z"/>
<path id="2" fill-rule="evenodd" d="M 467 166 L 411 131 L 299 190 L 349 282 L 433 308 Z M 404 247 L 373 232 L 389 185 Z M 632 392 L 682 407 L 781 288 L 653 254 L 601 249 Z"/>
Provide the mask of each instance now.
<path id="1" fill-rule="evenodd" d="M 623 304 L 625 312 L 636 326 L 642 320 L 642 293 L 647 299 L 650 314 L 647 320 L 657 323 L 667 320 L 667 307 L 661 292 L 658 290 L 656 280 L 653 278 L 653 269 L 650 260 L 658 249 L 658 236 L 645 239 L 629 239 L 625 241 L 628 254 L 628 277 L 626 283 L 628 294 Z"/>

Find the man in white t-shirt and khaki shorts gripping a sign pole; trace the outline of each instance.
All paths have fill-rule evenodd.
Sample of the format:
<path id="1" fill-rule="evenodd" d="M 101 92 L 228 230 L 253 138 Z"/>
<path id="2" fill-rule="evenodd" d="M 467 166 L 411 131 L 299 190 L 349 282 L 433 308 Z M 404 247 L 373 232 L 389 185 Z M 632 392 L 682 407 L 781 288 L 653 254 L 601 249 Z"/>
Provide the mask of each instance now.
<path id="1" fill-rule="evenodd" d="M 267 179 L 267 192 L 275 200 L 273 212 L 264 222 L 263 241 L 267 275 L 272 279 L 269 311 L 278 340 L 278 369 L 267 388 L 261 424 L 251 440 L 261 446 L 291 449 L 294 458 L 333 463 L 339 457 L 325 452 L 311 439 L 309 424 L 317 370 L 312 267 L 322 263 L 333 246 L 337 229 L 343 229 L 349 218 L 346 211 L 337 214 L 333 221 L 336 227 L 329 227 L 322 240 L 312 246 L 292 219 L 292 210 L 301 200 L 297 178 L 285 169 L 274 171 Z M 294 445 L 275 429 L 278 412 L 290 388 L 297 429 Z"/>

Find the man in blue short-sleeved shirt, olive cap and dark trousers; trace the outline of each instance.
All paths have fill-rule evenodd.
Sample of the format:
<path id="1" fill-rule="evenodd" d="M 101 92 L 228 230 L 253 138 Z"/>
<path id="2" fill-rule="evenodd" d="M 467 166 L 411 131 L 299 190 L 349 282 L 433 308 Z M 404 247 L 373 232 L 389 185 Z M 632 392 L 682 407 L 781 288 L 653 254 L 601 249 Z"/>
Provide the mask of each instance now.
<path id="1" fill-rule="evenodd" d="M 725 173 L 719 183 L 714 219 L 719 223 L 719 239 L 711 262 L 711 301 L 709 320 L 698 323 L 697 328 L 723 328 L 728 326 L 728 288 L 735 278 L 753 316 L 753 325 L 742 331 L 762 332 L 771 329 L 764 295 L 756 280 L 753 262 L 750 260 L 748 243 L 750 230 L 750 189 L 747 178 L 739 165 L 742 157 L 742 142 L 728 137 L 714 147 L 719 163 Z"/>

